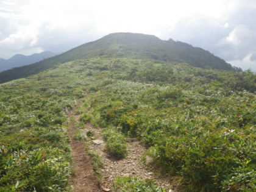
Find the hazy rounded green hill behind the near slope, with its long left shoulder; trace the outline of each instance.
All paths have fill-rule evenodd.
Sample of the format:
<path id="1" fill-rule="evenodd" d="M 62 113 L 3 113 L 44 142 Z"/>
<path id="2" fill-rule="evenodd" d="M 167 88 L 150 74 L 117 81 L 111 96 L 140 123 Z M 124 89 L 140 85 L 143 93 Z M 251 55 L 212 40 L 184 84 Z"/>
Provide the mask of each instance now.
<path id="1" fill-rule="evenodd" d="M 173 40 L 163 41 L 153 35 L 116 33 L 82 44 L 51 59 L 4 71 L 0 73 L 0 83 L 37 74 L 57 65 L 57 63 L 93 57 L 152 59 L 157 62 L 189 63 L 200 68 L 236 70 L 210 52 L 194 48 L 187 43 Z"/>

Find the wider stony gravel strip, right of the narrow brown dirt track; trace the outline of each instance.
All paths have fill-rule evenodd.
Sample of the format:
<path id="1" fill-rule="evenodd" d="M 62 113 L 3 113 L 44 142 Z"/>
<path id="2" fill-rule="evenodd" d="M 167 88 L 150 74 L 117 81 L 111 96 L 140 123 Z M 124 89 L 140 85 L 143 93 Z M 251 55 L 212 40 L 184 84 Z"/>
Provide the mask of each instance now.
<path id="1" fill-rule="evenodd" d="M 101 135 L 101 130 L 93 127 L 90 123 L 85 126 L 84 134 L 86 134 L 88 130 L 94 132 L 94 140 L 90 145 L 90 149 L 98 154 L 104 163 L 104 167 L 101 169 L 101 188 L 112 191 L 112 185 L 116 177 L 136 176 L 143 180 L 154 179 L 155 182 L 165 188 L 166 191 L 173 191 L 171 190 L 172 185 L 169 180 L 158 177 L 141 162 L 141 157 L 145 154 L 146 149 L 140 141 L 127 138 L 127 157 L 121 160 L 115 160 L 109 157 L 104 151 L 104 140 Z"/>

